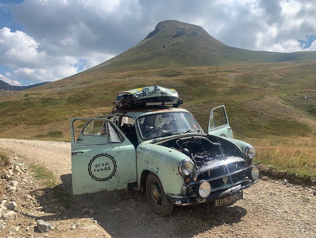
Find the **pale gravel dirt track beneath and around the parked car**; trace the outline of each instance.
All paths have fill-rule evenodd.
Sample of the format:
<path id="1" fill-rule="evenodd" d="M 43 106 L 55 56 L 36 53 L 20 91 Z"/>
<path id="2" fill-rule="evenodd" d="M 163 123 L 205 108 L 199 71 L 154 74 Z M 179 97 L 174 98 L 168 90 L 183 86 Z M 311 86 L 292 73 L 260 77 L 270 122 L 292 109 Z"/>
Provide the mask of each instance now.
<path id="1" fill-rule="evenodd" d="M 43 194 L 38 198 L 40 204 L 57 199 L 55 210 L 52 206 L 41 219 L 54 225 L 56 219 L 62 219 L 57 226 L 63 229 L 47 232 L 49 237 L 316 237 L 316 197 L 310 187 L 260 181 L 233 205 L 176 207 L 171 216 L 161 218 L 150 210 L 145 194 L 134 190 L 71 195 L 70 143 L 0 138 L 0 148 L 23 156 L 26 164 L 49 168 L 61 182 L 55 190 L 42 187 L 33 191 Z M 62 194 L 57 195 L 56 188 Z M 66 211 L 58 215 L 60 205 Z M 71 230 L 72 223 L 86 222 L 85 208 L 94 210 L 90 217 L 98 224 L 89 232 Z"/>

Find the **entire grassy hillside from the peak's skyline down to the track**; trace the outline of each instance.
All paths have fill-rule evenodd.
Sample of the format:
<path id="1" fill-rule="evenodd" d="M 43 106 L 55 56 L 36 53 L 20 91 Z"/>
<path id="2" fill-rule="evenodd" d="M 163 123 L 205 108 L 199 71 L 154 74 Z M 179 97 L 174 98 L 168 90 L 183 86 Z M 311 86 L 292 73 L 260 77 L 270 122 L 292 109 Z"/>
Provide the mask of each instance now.
<path id="1" fill-rule="evenodd" d="M 175 36 L 177 31 L 181 35 Z M 180 43 L 172 46 L 174 42 Z M 155 52 L 164 56 L 167 48 L 171 70 L 161 54 L 156 55 L 159 60 L 149 61 Z M 198 61 L 202 55 L 209 61 Z M 204 129 L 211 108 L 225 104 L 236 138 L 264 144 L 289 140 L 316 147 L 314 55 L 229 47 L 202 27 L 163 21 L 137 46 L 106 63 L 11 98 L 0 95 L 0 137 L 69 141 L 70 117 L 109 113 L 117 92 L 158 84 L 175 88 L 184 100 L 182 107 Z M 220 65 L 190 63 L 195 60 Z"/>

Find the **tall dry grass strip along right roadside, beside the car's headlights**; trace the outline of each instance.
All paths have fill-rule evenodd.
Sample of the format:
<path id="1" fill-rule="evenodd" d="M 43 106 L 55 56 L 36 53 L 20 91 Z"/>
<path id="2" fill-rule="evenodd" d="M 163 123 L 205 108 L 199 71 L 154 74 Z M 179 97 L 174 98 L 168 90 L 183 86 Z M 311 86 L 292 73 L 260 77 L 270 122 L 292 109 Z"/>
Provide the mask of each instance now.
<path id="1" fill-rule="evenodd" d="M 299 176 L 316 177 L 316 146 L 302 147 L 295 143 L 258 146 L 255 163 Z"/>

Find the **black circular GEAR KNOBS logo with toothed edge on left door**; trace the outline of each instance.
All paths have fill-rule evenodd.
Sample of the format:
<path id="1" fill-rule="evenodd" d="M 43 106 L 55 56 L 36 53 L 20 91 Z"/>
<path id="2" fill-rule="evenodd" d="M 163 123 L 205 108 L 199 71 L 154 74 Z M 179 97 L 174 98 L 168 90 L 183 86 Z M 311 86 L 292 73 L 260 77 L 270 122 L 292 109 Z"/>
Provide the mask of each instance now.
<path id="1" fill-rule="evenodd" d="M 116 161 L 108 154 L 96 155 L 88 164 L 88 172 L 94 180 L 109 180 L 116 172 Z"/>

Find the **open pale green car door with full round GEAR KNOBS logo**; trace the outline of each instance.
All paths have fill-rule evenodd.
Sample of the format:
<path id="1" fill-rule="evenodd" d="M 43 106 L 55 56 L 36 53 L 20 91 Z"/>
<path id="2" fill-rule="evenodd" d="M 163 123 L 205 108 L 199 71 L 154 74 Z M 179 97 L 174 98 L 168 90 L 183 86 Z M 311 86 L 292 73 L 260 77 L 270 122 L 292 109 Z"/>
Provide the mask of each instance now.
<path id="1" fill-rule="evenodd" d="M 73 194 L 137 184 L 135 147 L 110 119 L 70 121 Z"/>

